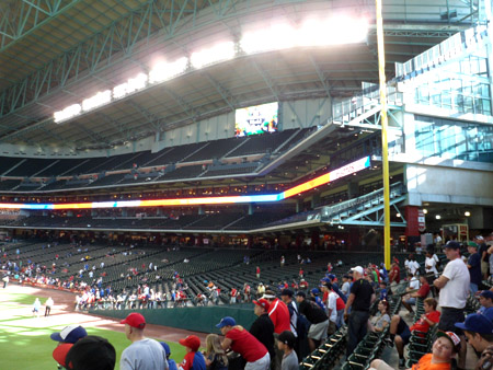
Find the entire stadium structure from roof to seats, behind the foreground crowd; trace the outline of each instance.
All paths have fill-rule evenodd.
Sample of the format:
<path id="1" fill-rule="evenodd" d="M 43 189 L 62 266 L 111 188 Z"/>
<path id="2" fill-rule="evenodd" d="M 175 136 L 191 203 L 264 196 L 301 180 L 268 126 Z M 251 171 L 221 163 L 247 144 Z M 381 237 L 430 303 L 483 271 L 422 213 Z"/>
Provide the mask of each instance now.
<path id="1" fill-rule="evenodd" d="M 390 317 L 405 312 L 410 261 L 417 278 L 432 252 L 439 280 L 448 242 L 466 258 L 493 245 L 492 3 L 378 2 L 381 19 L 375 0 L 0 2 L 2 276 L 214 333 L 250 327 L 265 289 L 309 296 L 363 266 L 377 298 L 392 287 Z M 399 278 L 383 288 L 386 238 Z M 479 309 L 471 291 L 463 312 Z M 438 325 L 412 331 L 405 360 L 392 327 L 347 352 L 337 322 L 297 345 L 299 369 L 435 354 Z"/>

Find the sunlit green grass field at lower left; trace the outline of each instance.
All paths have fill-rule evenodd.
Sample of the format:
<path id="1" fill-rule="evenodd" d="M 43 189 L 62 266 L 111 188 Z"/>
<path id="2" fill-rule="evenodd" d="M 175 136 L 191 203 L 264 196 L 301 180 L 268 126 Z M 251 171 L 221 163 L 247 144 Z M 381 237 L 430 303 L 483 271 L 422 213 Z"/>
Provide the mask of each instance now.
<path id="1" fill-rule="evenodd" d="M 49 370 L 57 369 L 57 363 L 51 357 L 57 343 L 49 335 L 61 331 L 67 324 L 56 324 L 51 316 L 50 325 L 45 317 L 33 317 L 31 307 L 35 296 L 5 292 L 0 289 L 0 312 L 4 319 L 0 320 L 0 356 L 1 370 Z M 45 298 L 39 298 L 44 304 Z M 23 307 L 22 304 L 27 304 Z M 84 325 L 82 325 L 84 326 Z M 88 334 L 99 335 L 110 340 L 116 349 L 116 366 L 122 351 L 130 345 L 124 333 L 106 331 L 94 327 L 85 327 Z M 169 343 L 171 358 L 180 362 L 185 356 L 185 348 L 177 343 Z"/>

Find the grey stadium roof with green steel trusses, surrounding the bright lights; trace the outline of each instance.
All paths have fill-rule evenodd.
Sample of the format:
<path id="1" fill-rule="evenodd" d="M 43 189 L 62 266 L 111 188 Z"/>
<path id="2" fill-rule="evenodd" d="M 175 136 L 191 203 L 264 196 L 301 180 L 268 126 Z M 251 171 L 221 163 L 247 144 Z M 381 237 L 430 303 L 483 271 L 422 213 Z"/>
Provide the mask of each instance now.
<path id="1" fill-rule="evenodd" d="M 483 0 L 383 1 L 388 78 L 481 18 Z M 112 148 L 271 101 L 351 96 L 378 82 L 374 0 L 9 0 L 0 2 L 0 142 Z M 252 27 L 340 13 L 366 42 L 249 55 L 131 94 L 61 124 L 54 112 Z M 332 35 L 333 36 L 333 35 Z M 329 37 L 329 35 L 328 35 Z M 237 45 L 237 44 L 236 44 Z"/>

